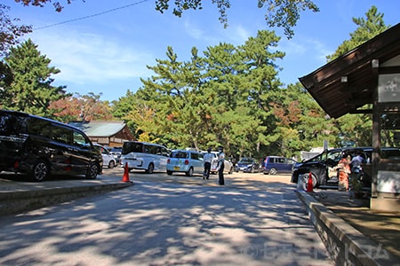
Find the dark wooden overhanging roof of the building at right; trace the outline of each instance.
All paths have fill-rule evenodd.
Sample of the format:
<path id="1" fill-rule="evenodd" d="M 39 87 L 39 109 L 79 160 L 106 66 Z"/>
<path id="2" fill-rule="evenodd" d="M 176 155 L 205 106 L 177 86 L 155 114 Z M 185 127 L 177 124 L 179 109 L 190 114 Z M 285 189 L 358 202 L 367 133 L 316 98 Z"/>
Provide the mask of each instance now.
<path id="1" fill-rule="evenodd" d="M 395 63 L 385 66 L 390 59 Z M 372 67 L 372 60 L 380 67 Z M 372 104 L 378 74 L 388 73 L 400 73 L 400 23 L 299 80 L 326 113 L 338 118 Z"/>

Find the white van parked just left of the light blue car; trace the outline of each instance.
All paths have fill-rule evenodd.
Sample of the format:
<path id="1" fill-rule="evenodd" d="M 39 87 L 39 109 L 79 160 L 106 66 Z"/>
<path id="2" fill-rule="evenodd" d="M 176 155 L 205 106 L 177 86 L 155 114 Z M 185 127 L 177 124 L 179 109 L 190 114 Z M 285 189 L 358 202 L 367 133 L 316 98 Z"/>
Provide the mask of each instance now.
<path id="1" fill-rule="evenodd" d="M 142 169 L 151 174 L 153 171 L 166 170 L 170 151 L 164 145 L 140 141 L 125 142 L 121 152 L 121 166 L 128 169 Z"/>

